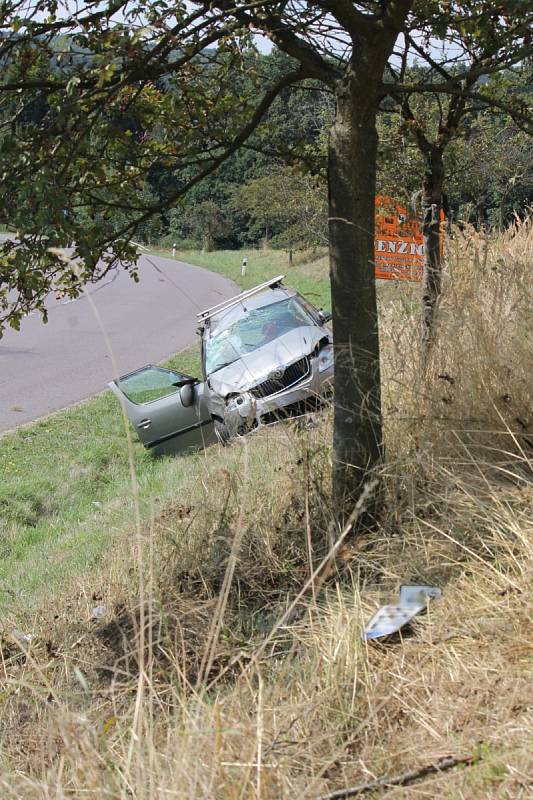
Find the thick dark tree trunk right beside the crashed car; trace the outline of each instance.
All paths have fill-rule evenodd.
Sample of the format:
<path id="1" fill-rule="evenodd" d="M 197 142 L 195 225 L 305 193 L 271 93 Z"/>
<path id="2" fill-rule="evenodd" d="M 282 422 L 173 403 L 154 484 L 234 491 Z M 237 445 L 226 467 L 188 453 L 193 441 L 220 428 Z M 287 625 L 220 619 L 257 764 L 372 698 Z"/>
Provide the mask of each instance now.
<path id="1" fill-rule="evenodd" d="M 363 72 L 363 70 L 361 70 Z M 379 339 L 374 273 L 377 94 L 348 74 L 337 91 L 329 140 L 330 272 L 335 342 L 333 500 L 353 507 L 382 457 Z"/>

